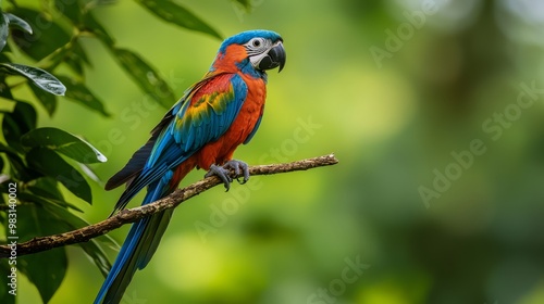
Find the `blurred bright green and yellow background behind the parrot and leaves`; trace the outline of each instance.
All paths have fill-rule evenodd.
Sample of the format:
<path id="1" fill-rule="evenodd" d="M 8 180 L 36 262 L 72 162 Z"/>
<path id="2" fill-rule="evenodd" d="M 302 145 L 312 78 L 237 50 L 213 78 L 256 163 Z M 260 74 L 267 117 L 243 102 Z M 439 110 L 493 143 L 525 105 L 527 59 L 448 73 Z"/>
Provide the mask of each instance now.
<path id="1" fill-rule="evenodd" d="M 286 67 L 270 73 L 263 123 L 237 159 L 334 152 L 341 163 L 182 204 L 124 303 L 544 303 L 542 2 L 251 0 L 250 13 L 227 0 L 178 3 L 225 37 L 267 28 L 285 40 Z M 221 42 L 132 1 L 95 14 L 180 97 Z M 82 42 L 94 63 L 87 85 L 113 116 L 66 102 L 39 125 L 97 145 L 106 180 L 165 109 L 96 39 Z M 481 155 L 463 152 L 474 140 Z M 121 191 L 94 185 L 83 216 L 106 218 Z M 121 243 L 127 229 L 110 235 Z M 103 278 L 77 248 L 69 262 L 51 303 L 89 303 Z M 18 303 L 38 302 L 21 279 Z"/>

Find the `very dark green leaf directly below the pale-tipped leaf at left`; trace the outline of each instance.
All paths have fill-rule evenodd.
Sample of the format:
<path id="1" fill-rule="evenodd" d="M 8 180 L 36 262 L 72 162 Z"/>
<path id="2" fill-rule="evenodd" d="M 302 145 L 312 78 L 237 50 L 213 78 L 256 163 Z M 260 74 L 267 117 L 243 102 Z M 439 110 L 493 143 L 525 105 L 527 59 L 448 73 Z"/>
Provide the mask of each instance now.
<path id="1" fill-rule="evenodd" d="M 92 194 L 87 180 L 52 150 L 42 147 L 34 148 L 26 154 L 26 163 L 37 172 L 59 180 L 76 197 L 89 204 L 92 203 Z"/>

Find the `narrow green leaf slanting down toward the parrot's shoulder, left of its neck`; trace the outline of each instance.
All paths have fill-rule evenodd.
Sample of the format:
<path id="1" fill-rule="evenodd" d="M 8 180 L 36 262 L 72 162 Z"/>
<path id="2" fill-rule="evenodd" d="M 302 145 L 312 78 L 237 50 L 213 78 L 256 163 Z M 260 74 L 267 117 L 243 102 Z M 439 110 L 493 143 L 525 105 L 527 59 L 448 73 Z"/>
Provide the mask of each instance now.
<path id="1" fill-rule="evenodd" d="M 118 62 L 133 80 L 162 106 L 170 109 L 176 100 L 170 86 L 140 56 L 124 49 L 112 49 Z"/>

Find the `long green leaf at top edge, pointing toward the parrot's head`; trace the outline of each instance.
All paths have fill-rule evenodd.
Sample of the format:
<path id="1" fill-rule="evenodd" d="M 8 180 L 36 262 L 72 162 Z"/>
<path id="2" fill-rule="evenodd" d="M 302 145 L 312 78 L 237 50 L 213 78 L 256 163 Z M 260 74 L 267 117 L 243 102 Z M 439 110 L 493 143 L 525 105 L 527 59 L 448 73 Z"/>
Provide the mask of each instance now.
<path id="1" fill-rule="evenodd" d="M 172 0 L 137 0 L 137 2 L 166 22 L 222 39 L 214 28 Z"/>

